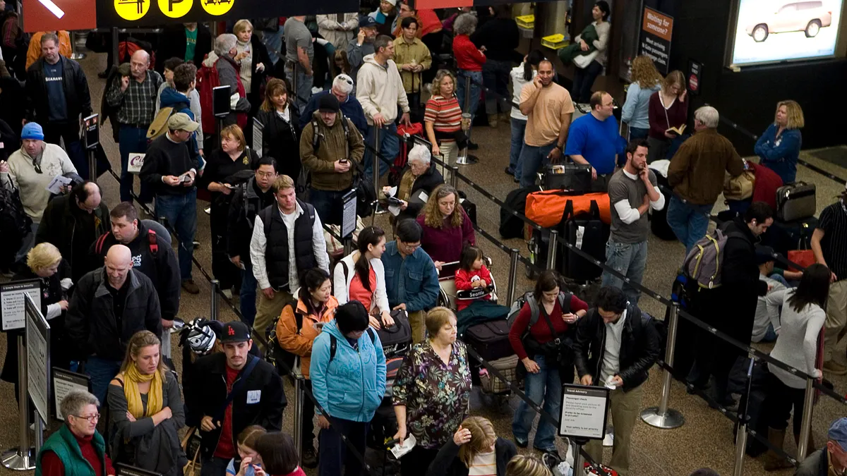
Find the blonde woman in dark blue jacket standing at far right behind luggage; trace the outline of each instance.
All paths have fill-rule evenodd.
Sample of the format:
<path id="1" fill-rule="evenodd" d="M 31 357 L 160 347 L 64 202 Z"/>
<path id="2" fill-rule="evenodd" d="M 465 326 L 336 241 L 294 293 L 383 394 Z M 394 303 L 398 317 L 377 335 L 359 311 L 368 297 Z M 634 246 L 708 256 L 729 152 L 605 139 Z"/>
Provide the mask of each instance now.
<path id="1" fill-rule="evenodd" d="M 767 127 L 765 133 L 756 141 L 753 149 L 759 156 L 759 163 L 776 172 L 783 184 L 793 183 L 797 178 L 797 159 L 800 158 L 800 147 L 803 136 L 803 109 L 794 101 L 777 103 L 777 113 L 773 124 Z"/>

